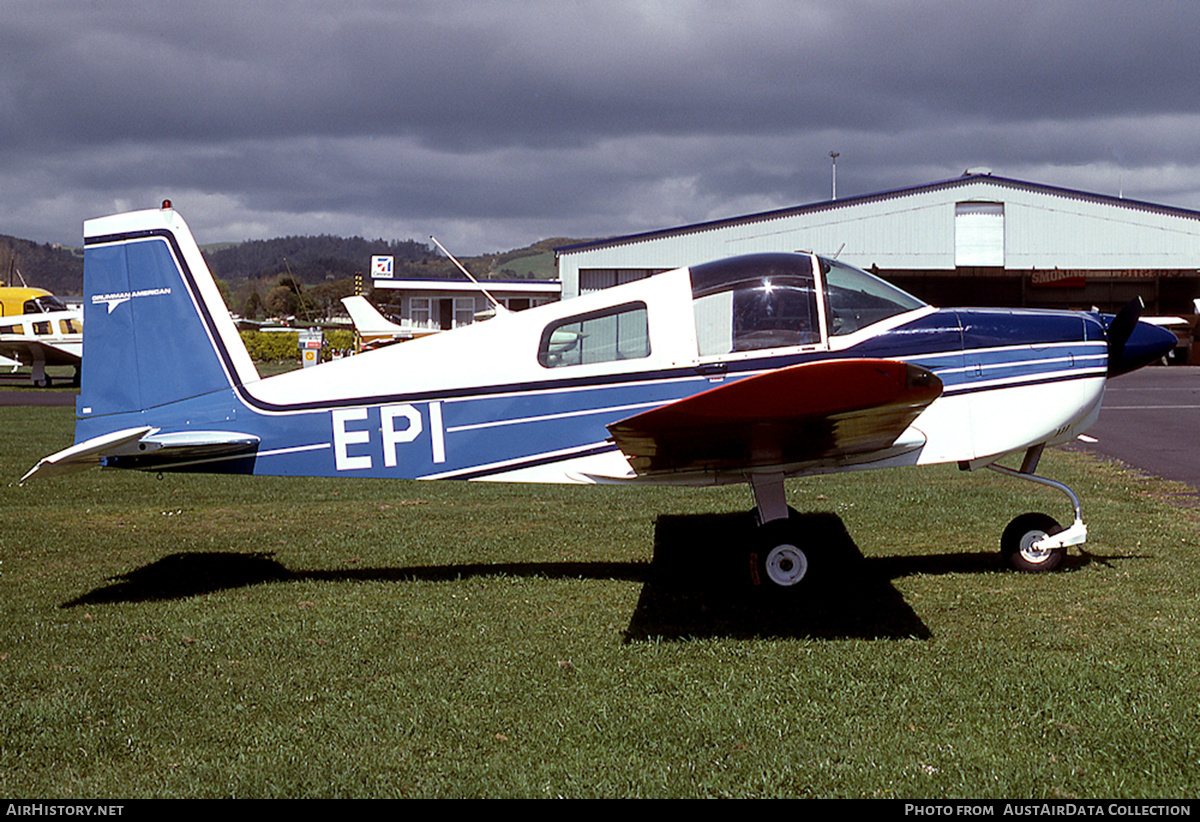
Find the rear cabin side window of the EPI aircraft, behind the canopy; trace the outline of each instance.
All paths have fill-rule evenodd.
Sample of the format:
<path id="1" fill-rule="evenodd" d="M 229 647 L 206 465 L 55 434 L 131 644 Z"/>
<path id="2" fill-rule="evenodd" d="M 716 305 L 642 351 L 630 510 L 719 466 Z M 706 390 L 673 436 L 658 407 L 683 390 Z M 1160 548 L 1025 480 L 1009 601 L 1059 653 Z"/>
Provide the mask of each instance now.
<path id="1" fill-rule="evenodd" d="M 538 362 L 547 368 L 635 360 L 650 355 L 644 302 L 577 314 L 546 326 Z"/>

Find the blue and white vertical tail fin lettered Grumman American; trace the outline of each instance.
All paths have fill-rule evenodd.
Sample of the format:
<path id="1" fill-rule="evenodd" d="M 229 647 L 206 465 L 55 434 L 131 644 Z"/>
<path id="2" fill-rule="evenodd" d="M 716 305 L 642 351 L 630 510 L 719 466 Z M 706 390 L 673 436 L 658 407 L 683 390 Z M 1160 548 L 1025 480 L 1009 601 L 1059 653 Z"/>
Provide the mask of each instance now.
<path id="1" fill-rule="evenodd" d="M 258 379 L 169 203 L 84 223 L 84 328 L 80 421 Z"/>

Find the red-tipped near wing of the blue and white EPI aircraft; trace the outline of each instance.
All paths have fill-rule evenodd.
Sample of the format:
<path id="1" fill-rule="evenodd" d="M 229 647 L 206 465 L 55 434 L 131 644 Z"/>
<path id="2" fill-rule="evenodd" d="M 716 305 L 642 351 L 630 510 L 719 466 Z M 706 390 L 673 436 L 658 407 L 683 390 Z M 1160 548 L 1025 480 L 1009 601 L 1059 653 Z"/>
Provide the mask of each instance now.
<path id="1" fill-rule="evenodd" d="M 746 377 L 613 422 L 638 474 L 785 466 L 882 451 L 942 394 L 893 360 L 826 360 Z"/>

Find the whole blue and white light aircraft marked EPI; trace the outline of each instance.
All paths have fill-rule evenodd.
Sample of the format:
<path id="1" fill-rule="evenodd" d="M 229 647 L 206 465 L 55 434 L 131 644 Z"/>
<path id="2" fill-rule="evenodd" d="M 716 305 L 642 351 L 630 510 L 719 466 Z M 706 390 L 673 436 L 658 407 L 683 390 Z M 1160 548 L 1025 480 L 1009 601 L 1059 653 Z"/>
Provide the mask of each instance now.
<path id="1" fill-rule="evenodd" d="M 1175 344 L 1138 322 L 938 310 L 853 266 L 760 253 L 682 268 L 259 378 L 168 203 L 84 224 L 76 444 L 26 475 L 143 470 L 520 482 L 746 482 L 754 581 L 796 589 L 814 546 L 786 478 L 958 463 L 1060 490 L 1066 529 L 1006 529 L 1018 569 L 1085 541 L 1034 474 L 1097 418 L 1109 377 Z M 998 464 L 1021 455 L 1019 469 Z"/>

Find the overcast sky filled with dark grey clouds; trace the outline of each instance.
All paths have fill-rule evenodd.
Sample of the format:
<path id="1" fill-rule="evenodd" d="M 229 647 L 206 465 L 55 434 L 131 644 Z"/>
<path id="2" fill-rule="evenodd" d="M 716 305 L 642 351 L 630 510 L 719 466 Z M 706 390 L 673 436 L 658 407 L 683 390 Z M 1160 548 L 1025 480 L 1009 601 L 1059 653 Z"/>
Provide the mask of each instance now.
<path id="1" fill-rule="evenodd" d="M 0 0 L 0 234 L 456 253 L 967 167 L 1200 209 L 1200 4 Z"/>

